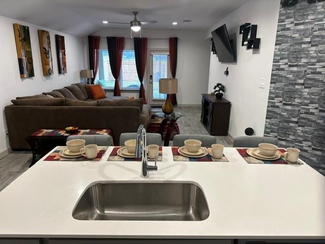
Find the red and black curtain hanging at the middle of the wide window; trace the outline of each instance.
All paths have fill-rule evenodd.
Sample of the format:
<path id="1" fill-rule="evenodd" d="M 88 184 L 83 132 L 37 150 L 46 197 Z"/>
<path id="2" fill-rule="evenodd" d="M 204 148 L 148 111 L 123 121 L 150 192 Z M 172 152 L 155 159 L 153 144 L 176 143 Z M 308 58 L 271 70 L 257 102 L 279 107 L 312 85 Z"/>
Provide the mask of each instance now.
<path id="1" fill-rule="evenodd" d="M 110 58 L 110 67 L 115 79 L 114 96 L 121 96 L 118 78 L 122 66 L 122 54 L 124 49 L 124 37 L 107 37 L 107 49 Z"/>

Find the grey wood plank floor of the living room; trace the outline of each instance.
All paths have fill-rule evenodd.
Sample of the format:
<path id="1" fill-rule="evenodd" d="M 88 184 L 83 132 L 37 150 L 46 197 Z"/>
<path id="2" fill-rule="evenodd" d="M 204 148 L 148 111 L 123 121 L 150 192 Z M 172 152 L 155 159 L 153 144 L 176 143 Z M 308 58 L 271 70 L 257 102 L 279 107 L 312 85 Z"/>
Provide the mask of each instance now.
<path id="1" fill-rule="evenodd" d="M 153 109 L 153 111 L 159 110 L 161 111 L 161 109 Z M 183 117 L 177 120 L 181 134 L 208 135 L 200 123 L 201 107 L 176 107 L 175 111 L 183 113 Z M 233 144 L 226 136 L 218 136 L 217 142 L 224 146 Z M 30 151 L 14 151 L 0 159 L 0 191 L 28 169 L 31 158 Z"/>

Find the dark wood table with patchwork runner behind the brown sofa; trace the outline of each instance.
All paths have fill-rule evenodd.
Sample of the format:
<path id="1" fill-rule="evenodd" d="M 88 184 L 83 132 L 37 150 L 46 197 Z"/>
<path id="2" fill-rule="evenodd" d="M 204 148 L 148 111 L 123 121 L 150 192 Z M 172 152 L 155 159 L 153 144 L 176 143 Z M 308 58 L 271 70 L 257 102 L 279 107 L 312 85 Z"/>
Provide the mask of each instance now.
<path id="1" fill-rule="evenodd" d="M 71 135 L 110 135 L 110 129 L 79 130 L 76 133 L 67 133 L 66 130 L 40 129 L 27 136 L 25 140 L 32 152 L 32 161 L 29 167 L 37 162 L 37 155 L 44 156 L 56 146 L 66 145 L 68 136 Z"/>

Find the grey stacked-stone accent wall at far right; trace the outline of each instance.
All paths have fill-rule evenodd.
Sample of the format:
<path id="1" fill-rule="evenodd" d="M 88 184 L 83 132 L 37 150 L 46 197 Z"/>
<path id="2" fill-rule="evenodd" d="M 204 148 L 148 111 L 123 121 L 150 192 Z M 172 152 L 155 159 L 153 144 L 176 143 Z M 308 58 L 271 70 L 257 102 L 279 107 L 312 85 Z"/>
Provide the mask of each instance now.
<path id="1" fill-rule="evenodd" d="M 325 175 L 324 79 L 325 2 L 281 5 L 264 134 Z"/>

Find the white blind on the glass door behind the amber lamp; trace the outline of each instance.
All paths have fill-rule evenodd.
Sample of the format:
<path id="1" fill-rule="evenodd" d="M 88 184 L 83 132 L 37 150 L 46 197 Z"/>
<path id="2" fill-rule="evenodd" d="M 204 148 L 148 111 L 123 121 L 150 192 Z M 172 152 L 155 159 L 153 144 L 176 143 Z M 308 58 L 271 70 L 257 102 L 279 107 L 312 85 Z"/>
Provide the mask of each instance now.
<path id="1" fill-rule="evenodd" d="M 152 98 L 166 99 L 166 94 L 159 93 L 159 79 L 170 77 L 169 54 L 151 53 L 152 58 Z"/>

